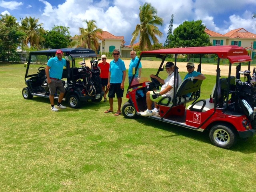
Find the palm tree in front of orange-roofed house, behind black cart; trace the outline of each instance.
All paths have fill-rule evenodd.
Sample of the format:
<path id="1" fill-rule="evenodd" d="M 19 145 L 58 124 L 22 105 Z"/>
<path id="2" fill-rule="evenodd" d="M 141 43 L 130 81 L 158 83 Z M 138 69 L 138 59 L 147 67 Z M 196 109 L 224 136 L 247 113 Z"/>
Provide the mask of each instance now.
<path id="1" fill-rule="evenodd" d="M 97 28 L 95 20 L 83 20 L 83 22 L 86 22 L 87 27 L 80 27 L 80 35 L 74 36 L 78 38 L 76 45 L 77 47 L 86 47 L 97 52 L 99 47 L 98 39 L 101 38 L 102 29 Z M 70 45 L 74 46 L 75 42 L 72 42 Z"/>

